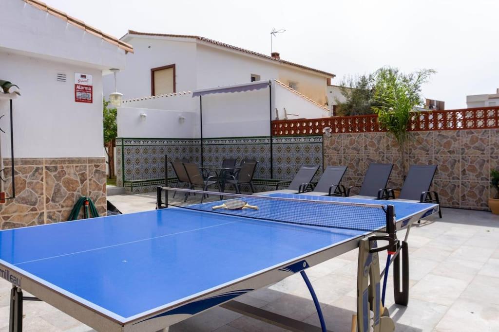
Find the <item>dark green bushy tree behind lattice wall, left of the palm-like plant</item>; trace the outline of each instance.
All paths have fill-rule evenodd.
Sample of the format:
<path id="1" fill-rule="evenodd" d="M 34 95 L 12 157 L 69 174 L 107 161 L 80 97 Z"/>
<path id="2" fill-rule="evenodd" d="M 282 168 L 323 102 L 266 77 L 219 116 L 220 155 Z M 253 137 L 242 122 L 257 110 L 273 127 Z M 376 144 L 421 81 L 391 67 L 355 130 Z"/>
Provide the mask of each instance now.
<path id="1" fill-rule="evenodd" d="M 341 116 L 372 114 L 375 77 L 372 74 L 345 77 L 340 83 L 344 101 L 335 98 L 336 114 Z"/>

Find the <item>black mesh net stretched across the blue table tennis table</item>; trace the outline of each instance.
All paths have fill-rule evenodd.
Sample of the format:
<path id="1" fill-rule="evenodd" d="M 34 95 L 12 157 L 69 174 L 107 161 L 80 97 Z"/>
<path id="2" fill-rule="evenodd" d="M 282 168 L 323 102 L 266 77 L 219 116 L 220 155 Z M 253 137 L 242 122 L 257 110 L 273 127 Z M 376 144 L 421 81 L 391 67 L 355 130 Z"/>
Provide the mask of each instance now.
<path id="1" fill-rule="evenodd" d="M 243 201 L 257 209 L 213 209 L 224 203 L 230 206 L 232 201 Z M 386 205 L 331 202 L 320 197 L 281 198 L 163 187 L 158 190 L 158 203 L 160 208 L 361 231 L 380 230 L 387 222 Z"/>

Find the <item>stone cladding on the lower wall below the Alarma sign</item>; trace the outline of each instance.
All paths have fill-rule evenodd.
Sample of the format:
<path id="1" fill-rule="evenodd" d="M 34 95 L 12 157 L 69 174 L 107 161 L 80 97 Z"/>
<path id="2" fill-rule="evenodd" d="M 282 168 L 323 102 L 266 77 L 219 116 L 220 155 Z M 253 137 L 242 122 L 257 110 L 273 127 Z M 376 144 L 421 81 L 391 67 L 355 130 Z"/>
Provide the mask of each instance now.
<path id="1" fill-rule="evenodd" d="M 11 196 L 10 160 L 4 161 L 6 196 Z M 19 158 L 14 160 L 15 196 L 0 205 L 1 229 L 67 221 L 81 196 L 105 216 L 104 158 Z"/>

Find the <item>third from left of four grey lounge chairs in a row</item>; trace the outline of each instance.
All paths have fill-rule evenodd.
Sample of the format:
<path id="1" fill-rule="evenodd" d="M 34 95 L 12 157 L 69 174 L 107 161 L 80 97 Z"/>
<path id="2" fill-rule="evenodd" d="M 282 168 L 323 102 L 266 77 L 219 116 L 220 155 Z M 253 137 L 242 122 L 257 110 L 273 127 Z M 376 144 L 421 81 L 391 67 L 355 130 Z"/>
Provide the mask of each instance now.
<path id="1" fill-rule="evenodd" d="M 367 198 L 367 199 L 381 199 L 378 197 L 380 189 L 385 189 L 392 173 L 393 164 L 377 164 L 371 163 L 367 169 L 364 180 L 361 186 L 351 186 L 348 187 L 346 191 L 347 197 L 352 198 Z M 352 188 L 359 188 L 360 191 L 358 195 L 350 196 Z"/>

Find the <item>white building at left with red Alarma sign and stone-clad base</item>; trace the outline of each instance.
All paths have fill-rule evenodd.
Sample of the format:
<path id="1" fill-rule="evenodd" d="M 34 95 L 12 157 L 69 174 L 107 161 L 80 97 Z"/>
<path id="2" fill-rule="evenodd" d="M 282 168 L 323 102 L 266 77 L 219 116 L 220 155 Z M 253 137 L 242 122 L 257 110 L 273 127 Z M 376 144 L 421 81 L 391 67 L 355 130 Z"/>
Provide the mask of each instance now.
<path id="1" fill-rule="evenodd" d="M 102 76 L 123 69 L 132 46 L 37 0 L 4 0 L 0 80 L 11 101 L 15 199 L 0 204 L 2 229 L 66 221 L 81 196 L 106 213 Z M 12 195 L 10 100 L 0 93 L 1 156 Z"/>

